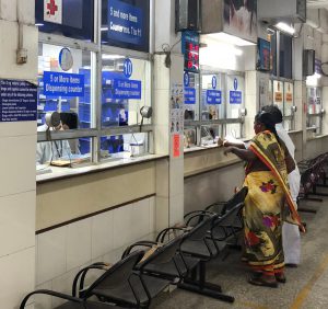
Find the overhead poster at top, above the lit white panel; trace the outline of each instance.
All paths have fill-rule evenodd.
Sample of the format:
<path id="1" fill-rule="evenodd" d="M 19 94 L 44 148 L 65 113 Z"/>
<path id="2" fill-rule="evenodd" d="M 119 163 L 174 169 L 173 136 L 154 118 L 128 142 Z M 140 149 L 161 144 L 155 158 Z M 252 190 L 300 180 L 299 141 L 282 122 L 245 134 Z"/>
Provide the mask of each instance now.
<path id="1" fill-rule="evenodd" d="M 257 0 L 224 0 L 223 31 L 256 43 Z"/>

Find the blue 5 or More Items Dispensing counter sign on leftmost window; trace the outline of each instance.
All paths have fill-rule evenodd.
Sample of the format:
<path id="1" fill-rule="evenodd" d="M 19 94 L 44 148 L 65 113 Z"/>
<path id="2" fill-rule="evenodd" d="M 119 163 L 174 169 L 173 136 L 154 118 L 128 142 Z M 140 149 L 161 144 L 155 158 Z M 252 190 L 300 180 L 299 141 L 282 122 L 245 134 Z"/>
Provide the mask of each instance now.
<path id="1" fill-rule="evenodd" d="M 44 94 L 50 96 L 84 96 L 84 75 L 44 72 Z"/>

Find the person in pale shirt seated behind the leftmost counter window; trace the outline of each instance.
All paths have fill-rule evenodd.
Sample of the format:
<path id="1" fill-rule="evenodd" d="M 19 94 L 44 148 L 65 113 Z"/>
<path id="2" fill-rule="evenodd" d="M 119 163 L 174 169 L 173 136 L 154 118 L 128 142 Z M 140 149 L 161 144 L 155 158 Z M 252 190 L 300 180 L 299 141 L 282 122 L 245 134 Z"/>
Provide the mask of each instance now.
<path id="1" fill-rule="evenodd" d="M 68 122 L 60 119 L 57 126 L 44 124 L 37 128 L 37 131 L 63 130 L 70 129 Z M 36 145 L 36 164 L 50 163 L 60 158 L 70 158 L 72 154 L 68 140 L 49 140 L 37 142 Z"/>

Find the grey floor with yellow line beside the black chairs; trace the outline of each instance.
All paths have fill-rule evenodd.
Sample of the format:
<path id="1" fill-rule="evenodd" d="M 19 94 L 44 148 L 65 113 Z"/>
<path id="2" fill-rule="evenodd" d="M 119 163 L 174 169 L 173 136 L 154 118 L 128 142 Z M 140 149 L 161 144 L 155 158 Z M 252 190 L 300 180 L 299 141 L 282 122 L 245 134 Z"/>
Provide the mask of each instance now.
<path id="1" fill-rule="evenodd" d="M 176 289 L 157 297 L 152 308 L 328 308 L 328 197 L 324 203 L 302 202 L 301 206 L 318 213 L 301 213 L 307 224 L 307 232 L 302 234 L 302 264 L 286 270 L 286 284 L 280 284 L 277 289 L 247 284 L 248 271 L 239 262 L 239 253 L 234 252 L 224 262 L 219 259 L 208 267 L 210 282 L 220 283 L 224 293 L 235 297 L 234 304 Z"/>

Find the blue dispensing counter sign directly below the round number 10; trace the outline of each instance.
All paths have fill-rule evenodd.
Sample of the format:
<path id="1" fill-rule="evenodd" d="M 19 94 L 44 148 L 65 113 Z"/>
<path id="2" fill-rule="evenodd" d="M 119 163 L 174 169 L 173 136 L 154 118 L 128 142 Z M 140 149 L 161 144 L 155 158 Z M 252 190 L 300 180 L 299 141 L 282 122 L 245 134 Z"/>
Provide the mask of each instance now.
<path id="1" fill-rule="evenodd" d="M 141 81 L 129 79 L 114 79 L 112 99 L 141 100 Z"/>

